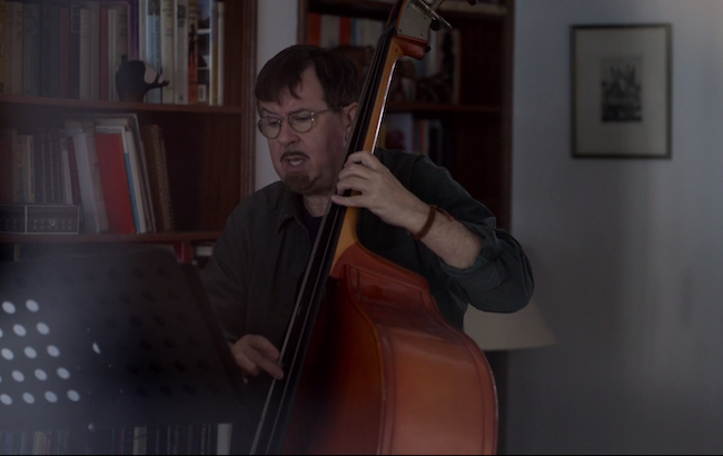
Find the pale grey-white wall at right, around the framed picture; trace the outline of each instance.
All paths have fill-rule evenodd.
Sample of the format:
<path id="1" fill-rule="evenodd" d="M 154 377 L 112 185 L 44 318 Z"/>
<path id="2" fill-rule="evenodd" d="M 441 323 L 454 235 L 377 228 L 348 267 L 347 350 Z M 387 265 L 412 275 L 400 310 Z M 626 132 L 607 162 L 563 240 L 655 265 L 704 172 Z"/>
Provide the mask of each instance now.
<path id="1" fill-rule="evenodd" d="M 571 158 L 570 27 L 673 26 L 670 160 Z M 723 450 L 723 1 L 517 0 L 513 232 L 559 343 L 514 351 L 511 454 Z"/>

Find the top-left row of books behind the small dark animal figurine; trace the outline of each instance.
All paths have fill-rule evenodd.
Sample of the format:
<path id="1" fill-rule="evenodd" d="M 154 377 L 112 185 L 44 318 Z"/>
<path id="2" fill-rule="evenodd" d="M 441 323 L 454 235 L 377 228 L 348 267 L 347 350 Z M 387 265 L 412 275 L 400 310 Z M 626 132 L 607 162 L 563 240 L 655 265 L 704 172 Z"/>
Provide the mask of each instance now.
<path id="1" fill-rule="evenodd" d="M 2 93 L 117 101 L 141 60 L 169 82 L 147 102 L 222 105 L 218 0 L 0 0 L 0 27 Z"/>

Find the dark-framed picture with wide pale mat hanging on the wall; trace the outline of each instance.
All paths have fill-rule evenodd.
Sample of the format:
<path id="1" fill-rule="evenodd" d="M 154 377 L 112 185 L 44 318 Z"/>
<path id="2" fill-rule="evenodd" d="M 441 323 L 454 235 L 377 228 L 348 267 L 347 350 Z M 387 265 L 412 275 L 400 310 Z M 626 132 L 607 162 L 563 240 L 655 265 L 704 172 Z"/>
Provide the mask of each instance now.
<path id="1" fill-rule="evenodd" d="M 573 157 L 671 157 L 671 29 L 572 27 Z"/>

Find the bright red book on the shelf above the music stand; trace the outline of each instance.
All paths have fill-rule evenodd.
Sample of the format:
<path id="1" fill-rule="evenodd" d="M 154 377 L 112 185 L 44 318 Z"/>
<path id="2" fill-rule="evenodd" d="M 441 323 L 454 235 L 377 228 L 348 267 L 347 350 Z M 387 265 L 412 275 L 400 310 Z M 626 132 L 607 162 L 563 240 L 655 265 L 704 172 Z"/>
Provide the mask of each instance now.
<path id="1" fill-rule="evenodd" d="M 108 210 L 108 232 L 133 234 L 136 222 L 126 174 L 123 135 L 96 131 L 96 150 Z"/>

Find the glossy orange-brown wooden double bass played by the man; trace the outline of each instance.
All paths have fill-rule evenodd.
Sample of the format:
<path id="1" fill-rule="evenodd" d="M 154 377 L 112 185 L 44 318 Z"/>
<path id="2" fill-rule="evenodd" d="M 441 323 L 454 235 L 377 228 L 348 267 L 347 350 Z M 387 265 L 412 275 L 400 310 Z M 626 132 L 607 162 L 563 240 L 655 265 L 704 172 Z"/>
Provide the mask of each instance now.
<path id="1" fill-rule="evenodd" d="M 374 150 L 394 68 L 422 59 L 444 0 L 398 0 L 377 42 L 346 157 Z M 474 1 L 473 1 L 474 2 Z M 339 163 L 341 167 L 343 163 Z M 426 279 L 361 246 L 329 202 L 251 454 L 494 454 L 497 398 L 477 345 Z"/>

